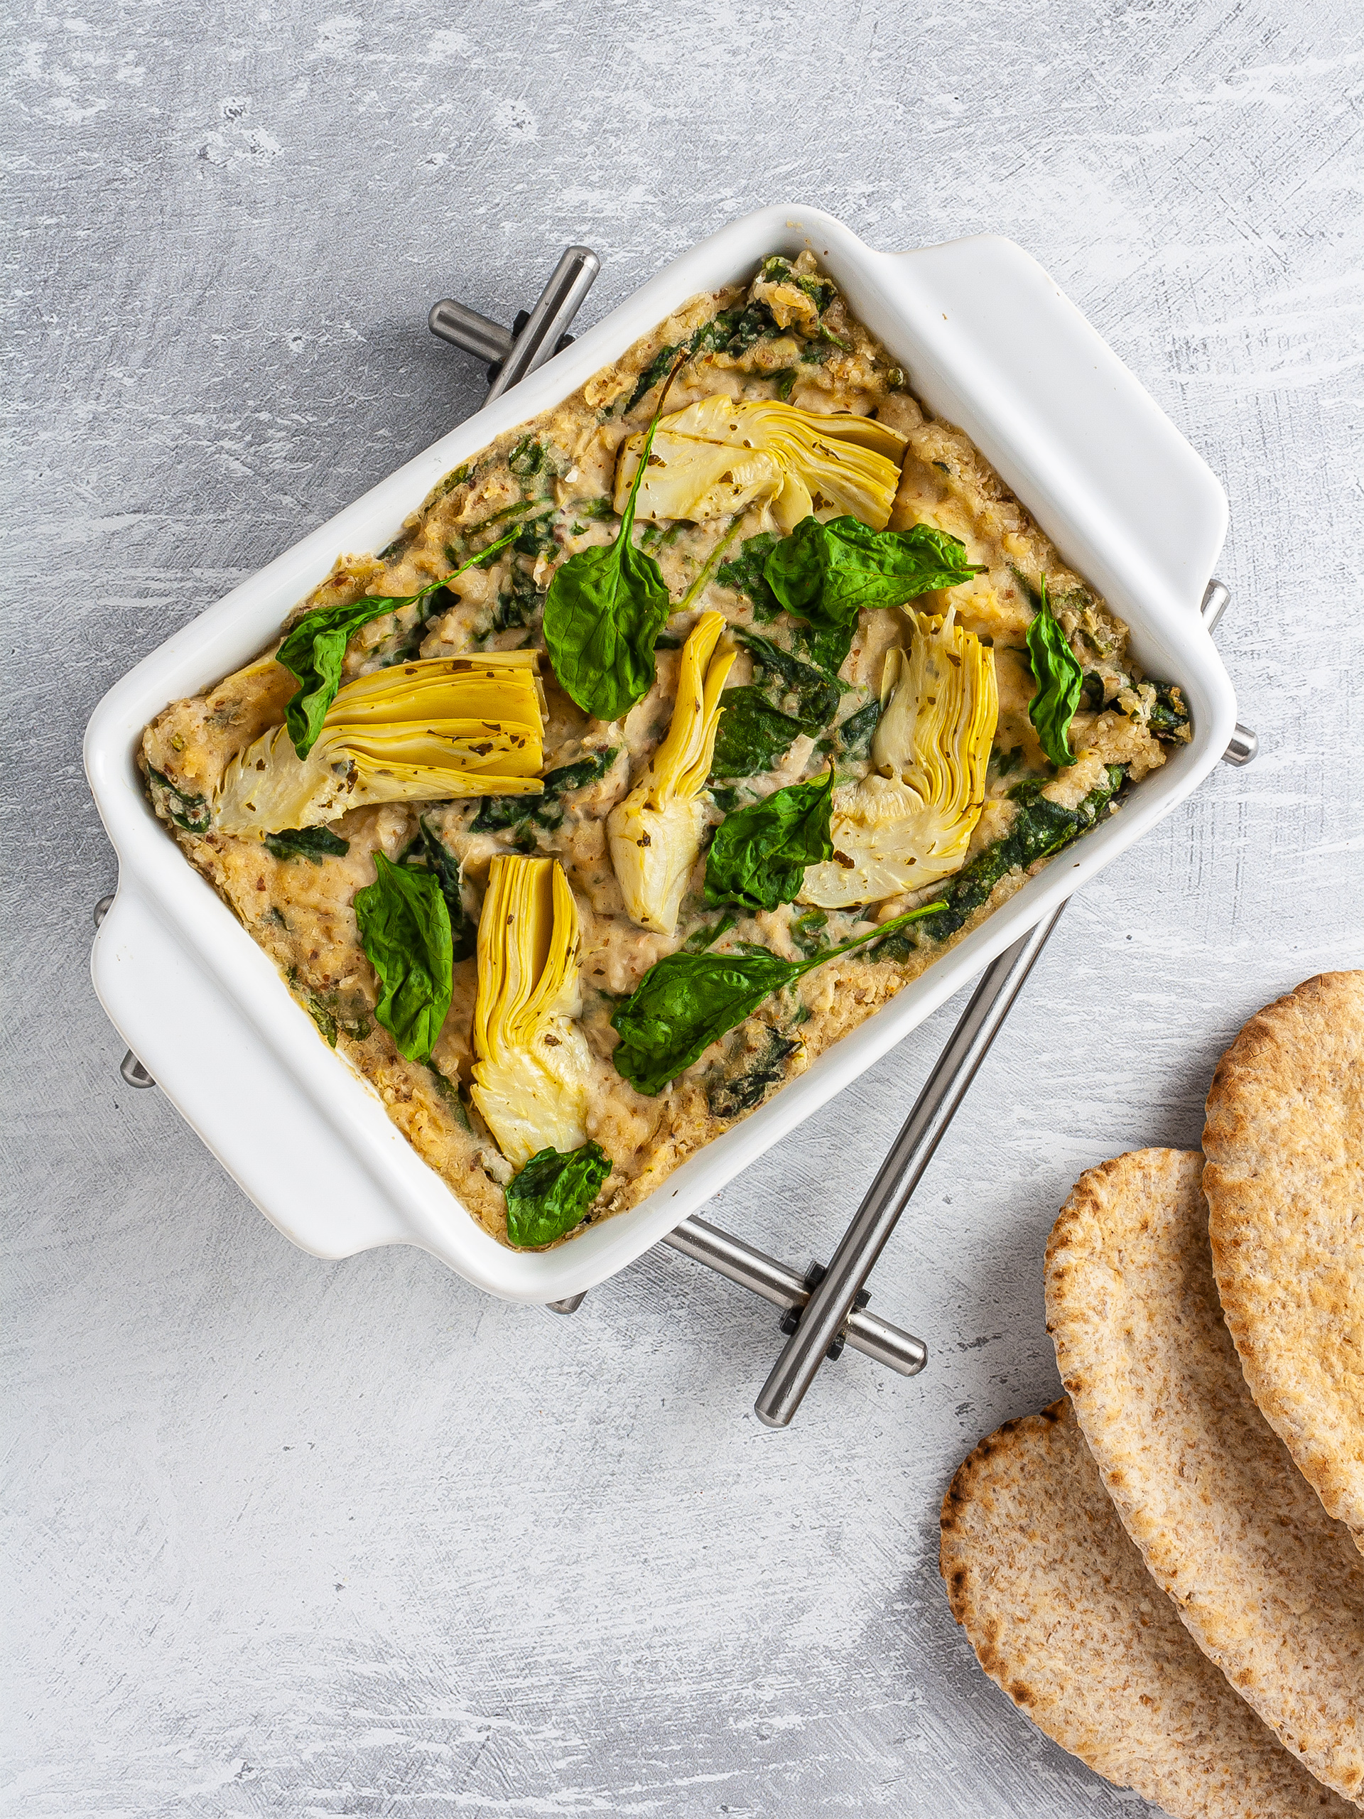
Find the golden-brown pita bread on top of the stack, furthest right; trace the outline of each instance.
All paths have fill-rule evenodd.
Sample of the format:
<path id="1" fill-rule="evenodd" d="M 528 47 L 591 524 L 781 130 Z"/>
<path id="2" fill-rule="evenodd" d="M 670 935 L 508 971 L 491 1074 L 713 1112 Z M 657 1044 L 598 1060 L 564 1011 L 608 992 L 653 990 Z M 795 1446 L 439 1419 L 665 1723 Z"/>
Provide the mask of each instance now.
<path id="1" fill-rule="evenodd" d="M 1202 1150 L 1246 1382 L 1364 1552 L 1364 973 L 1251 1017 L 1213 1075 Z"/>

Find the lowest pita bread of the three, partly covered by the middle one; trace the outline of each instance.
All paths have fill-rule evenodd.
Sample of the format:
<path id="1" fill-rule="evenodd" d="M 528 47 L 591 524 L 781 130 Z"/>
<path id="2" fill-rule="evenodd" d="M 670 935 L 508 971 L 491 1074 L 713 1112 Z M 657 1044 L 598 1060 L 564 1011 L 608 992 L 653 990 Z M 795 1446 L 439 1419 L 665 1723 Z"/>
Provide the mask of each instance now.
<path id="1" fill-rule="evenodd" d="M 1355 1814 L 1193 1644 L 1113 1513 L 1069 1402 L 1008 1421 L 958 1468 L 938 1564 L 986 1673 L 1117 1786 L 1175 1819 Z"/>

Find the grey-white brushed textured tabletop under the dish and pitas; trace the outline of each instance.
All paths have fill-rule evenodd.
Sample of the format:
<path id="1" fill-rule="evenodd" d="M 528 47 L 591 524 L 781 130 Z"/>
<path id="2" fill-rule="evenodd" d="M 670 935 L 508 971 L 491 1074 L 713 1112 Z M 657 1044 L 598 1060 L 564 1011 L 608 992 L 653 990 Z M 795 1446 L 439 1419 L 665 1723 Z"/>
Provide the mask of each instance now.
<path id="1" fill-rule="evenodd" d="M 7 29 L 4 1812 L 1129 1812 L 977 1670 L 937 1504 L 1057 1393 L 1073 1177 L 1197 1142 L 1242 1019 L 1364 964 L 1359 13 L 331 4 Z M 782 198 L 1058 278 L 1228 487 L 1264 755 L 1044 955 L 875 1277 L 928 1372 L 847 1357 L 773 1435 L 767 1310 L 680 1257 L 571 1321 L 415 1251 L 315 1262 L 122 1086 L 80 731 L 476 404 L 435 296 L 506 318 L 586 238 L 595 317 Z M 826 1253 L 957 1008 L 709 1217 Z"/>

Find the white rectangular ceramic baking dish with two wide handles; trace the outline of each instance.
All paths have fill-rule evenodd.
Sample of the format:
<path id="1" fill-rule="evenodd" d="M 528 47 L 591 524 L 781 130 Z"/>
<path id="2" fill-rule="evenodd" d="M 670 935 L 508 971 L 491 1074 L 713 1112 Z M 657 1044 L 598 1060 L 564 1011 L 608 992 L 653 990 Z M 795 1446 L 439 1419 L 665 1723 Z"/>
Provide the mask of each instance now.
<path id="1" fill-rule="evenodd" d="M 647 1201 L 571 1244 L 496 1244 L 329 1050 L 284 980 L 156 822 L 135 768 L 167 702 L 236 669 L 340 551 L 382 549 L 440 475 L 580 386 L 698 291 L 760 255 L 811 247 L 913 389 L 975 440 L 1066 560 L 1131 626 L 1148 673 L 1184 688 L 1193 740 L 1122 813 L 1029 880 L 860 1030 Z M 544 1302 L 622 1270 L 900 1040 L 1062 897 L 1140 839 L 1208 775 L 1235 726 L 1231 684 L 1199 602 L 1226 533 L 1220 486 L 1080 313 L 1020 247 L 995 236 L 873 253 L 817 209 L 731 222 L 511 393 L 340 511 L 124 677 L 85 733 L 85 769 L 118 853 L 95 990 L 224 1168 L 304 1250 L 346 1257 L 420 1244 L 493 1295 Z"/>

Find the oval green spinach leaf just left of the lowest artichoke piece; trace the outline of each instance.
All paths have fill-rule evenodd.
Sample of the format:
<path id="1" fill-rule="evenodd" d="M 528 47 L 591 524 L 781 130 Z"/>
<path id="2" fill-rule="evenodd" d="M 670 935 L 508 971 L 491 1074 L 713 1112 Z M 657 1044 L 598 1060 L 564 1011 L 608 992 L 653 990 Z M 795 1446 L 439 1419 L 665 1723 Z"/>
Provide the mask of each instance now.
<path id="1" fill-rule="evenodd" d="M 455 960 L 440 880 L 375 853 L 375 882 L 355 893 L 360 946 L 380 984 L 375 1017 L 407 1060 L 431 1060 L 449 1010 Z"/>

